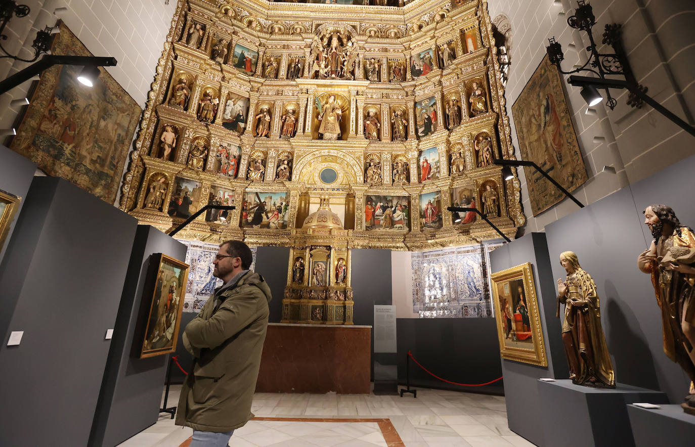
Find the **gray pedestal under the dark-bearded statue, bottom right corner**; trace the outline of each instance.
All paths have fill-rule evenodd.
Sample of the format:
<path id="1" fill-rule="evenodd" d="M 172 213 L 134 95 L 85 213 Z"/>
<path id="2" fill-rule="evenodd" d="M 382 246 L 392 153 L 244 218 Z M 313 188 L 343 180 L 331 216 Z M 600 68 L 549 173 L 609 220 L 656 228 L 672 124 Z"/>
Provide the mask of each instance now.
<path id="1" fill-rule="evenodd" d="M 637 447 L 676 447 L 695 444 L 695 416 L 680 405 L 646 409 L 628 405 L 632 434 Z"/>

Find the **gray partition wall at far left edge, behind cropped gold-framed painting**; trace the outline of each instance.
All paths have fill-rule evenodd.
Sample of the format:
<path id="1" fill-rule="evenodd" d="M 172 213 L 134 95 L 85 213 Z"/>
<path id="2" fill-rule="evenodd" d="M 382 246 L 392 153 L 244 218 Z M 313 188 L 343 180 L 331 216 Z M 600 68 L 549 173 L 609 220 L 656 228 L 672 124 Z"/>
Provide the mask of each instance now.
<path id="1" fill-rule="evenodd" d="M 0 145 L 0 190 L 22 197 L 22 201 L 19 202 L 17 213 L 15 213 L 15 219 L 10 223 L 8 237 L 5 239 L 4 243 L 0 242 L 0 261 L 2 261 L 7 243 L 15 229 L 19 211 L 22 211 L 22 206 L 26 200 L 26 192 L 29 190 L 34 172 L 36 172 L 36 163 Z"/>

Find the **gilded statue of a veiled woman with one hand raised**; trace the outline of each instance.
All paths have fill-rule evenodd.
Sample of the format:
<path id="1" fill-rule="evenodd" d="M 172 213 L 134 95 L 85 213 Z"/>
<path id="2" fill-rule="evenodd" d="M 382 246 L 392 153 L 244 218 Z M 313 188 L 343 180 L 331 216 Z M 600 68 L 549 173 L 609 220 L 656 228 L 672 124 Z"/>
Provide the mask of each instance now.
<path id="1" fill-rule="evenodd" d="M 560 263 L 567 277 L 564 281 L 557 279 L 557 316 L 559 304 L 563 303 L 562 344 L 569 364 L 569 377 L 574 384 L 586 387 L 615 388 L 615 373 L 601 328 L 594 279 L 579 265 L 574 252 L 562 252 Z M 523 298 L 523 287 L 519 288 Z M 517 311 L 522 319 L 526 315 L 528 321 L 528 311 L 521 298 Z"/>

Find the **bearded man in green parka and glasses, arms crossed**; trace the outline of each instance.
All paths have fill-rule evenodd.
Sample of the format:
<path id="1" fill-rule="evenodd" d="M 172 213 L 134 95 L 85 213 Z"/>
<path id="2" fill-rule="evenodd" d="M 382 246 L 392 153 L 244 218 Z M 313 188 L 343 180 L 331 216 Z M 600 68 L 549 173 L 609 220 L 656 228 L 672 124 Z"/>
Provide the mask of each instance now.
<path id="1" fill-rule="evenodd" d="M 249 270 L 252 262 L 245 243 L 220 245 L 213 275 L 224 284 L 183 332 L 193 371 L 183 382 L 176 424 L 193 428 L 190 447 L 226 447 L 253 417 L 271 297 L 268 283 Z"/>

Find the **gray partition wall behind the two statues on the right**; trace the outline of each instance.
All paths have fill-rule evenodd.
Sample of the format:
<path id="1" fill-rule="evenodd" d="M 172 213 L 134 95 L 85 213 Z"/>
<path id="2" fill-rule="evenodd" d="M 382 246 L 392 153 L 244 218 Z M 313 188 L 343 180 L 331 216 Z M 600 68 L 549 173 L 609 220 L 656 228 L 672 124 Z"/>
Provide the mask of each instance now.
<path id="1" fill-rule="evenodd" d="M 652 241 L 641 211 L 654 202 L 668 204 L 682 224 L 695 227 L 694 170 L 695 157 L 689 157 L 546 227 L 551 259 L 576 252 L 596 282 L 616 380 L 664 391 L 672 403 L 687 395 L 689 379 L 664 354 L 651 277 L 637 269 L 637 256 Z M 565 276 L 553 263 L 553 277 Z"/>

